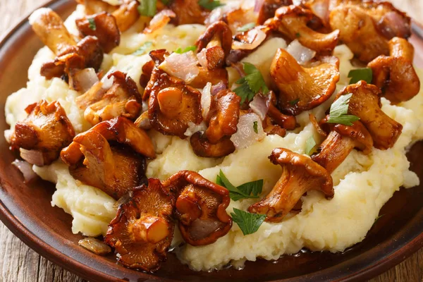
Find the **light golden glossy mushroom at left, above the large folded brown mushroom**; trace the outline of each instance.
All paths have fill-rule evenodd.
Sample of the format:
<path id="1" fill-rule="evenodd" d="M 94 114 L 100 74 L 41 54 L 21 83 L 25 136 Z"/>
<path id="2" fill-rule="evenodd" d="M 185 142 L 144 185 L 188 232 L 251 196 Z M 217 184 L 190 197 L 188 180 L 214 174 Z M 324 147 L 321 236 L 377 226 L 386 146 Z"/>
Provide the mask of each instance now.
<path id="1" fill-rule="evenodd" d="M 109 89 L 104 88 L 104 82 L 97 82 L 85 94 L 76 98 L 76 104 L 85 110 L 85 120 L 96 125 L 118 116 L 135 120 L 142 109 L 142 97 L 137 84 L 129 75 L 120 71 L 109 74 L 114 78 Z"/>

